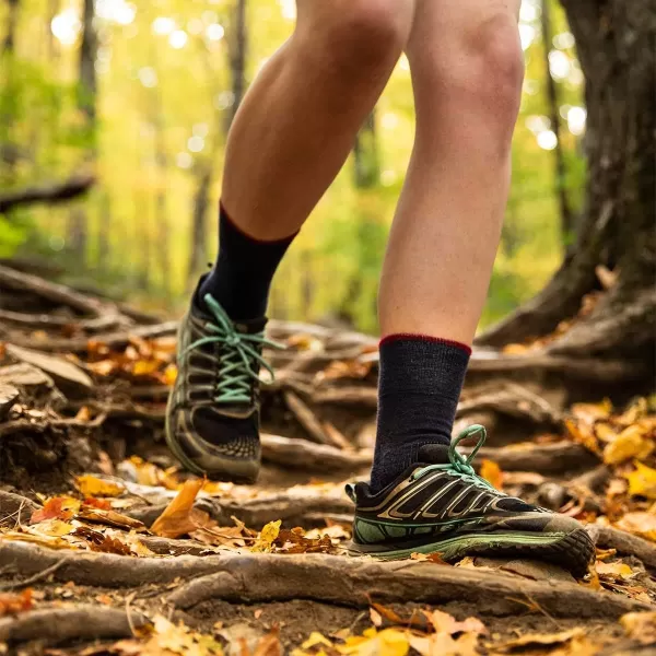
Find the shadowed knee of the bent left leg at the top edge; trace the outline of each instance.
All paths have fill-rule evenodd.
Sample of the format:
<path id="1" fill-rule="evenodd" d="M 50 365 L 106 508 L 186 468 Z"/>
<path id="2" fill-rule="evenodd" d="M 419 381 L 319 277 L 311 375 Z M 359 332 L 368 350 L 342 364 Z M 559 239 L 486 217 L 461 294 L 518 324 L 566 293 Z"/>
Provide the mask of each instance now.
<path id="1" fill-rule="evenodd" d="M 300 21 L 301 38 L 342 71 L 390 68 L 412 25 L 414 0 L 331 0 L 317 2 Z"/>

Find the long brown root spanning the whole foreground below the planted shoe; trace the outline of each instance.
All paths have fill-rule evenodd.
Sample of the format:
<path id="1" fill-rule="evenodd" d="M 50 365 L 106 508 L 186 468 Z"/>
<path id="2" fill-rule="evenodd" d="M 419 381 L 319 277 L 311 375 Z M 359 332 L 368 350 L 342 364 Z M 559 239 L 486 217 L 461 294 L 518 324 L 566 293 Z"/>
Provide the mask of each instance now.
<path id="1" fill-rule="evenodd" d="M 36 573 L 60 558 L 59 552 L 32 544 L 0 544 L 0 565 L 20 566 L 24 573 Z M 652 608 L 567 583 L 530 581 L 430 562 L 377 562 L 323 554 L 226 553 L 160 560 L 79 552 L 52 577 L 114 588 L 179 579 L 188 583 L 183 583 L 167 599 L 180 609 L 213 598 L 232 602 L 311 599 L 363 608 L 372 599 L 419 604 L 457 600 L 476 604 L 479 612 L 492 616 L 515 614 L 525 610 L 526 604 L 537 604 L 554 617 L 582 619 L 617 618 Z"/>

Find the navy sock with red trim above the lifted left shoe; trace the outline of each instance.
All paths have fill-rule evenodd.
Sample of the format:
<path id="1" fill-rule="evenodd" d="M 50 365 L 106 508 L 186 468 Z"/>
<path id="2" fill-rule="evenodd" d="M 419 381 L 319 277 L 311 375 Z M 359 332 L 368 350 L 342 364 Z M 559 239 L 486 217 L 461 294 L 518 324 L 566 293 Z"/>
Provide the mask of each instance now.
<path id="1" fill-rule="evenodd" d="M 263 317 L 271 280 L 296 234 L 274 242 L 256 239 L 235 225 L 221 206 L 219 256 L 198 296 L 211 294 L 235 321 Z"/>

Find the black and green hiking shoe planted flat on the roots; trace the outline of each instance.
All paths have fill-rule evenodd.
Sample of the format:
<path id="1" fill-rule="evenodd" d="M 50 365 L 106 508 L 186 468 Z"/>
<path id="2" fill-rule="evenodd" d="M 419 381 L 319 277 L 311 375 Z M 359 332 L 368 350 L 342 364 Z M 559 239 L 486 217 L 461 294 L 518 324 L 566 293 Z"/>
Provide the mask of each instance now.
<path id="1" fill-rule="evenodd" d="M 459 442 L 478 435 L 467 458 Z M 420 449 L 413 465 L 376 494 L 366 483 L 348 485 L 355 502 L 351 553 L 403 559 L 438 552 L 445 561 L 465 555 L 522 555 L 551 561 L 583 577 L 595 547 L 578 522 L 507 496 L 477 476 L 471 460 L 485 441 L 473 425 L 450 446 Z"/>

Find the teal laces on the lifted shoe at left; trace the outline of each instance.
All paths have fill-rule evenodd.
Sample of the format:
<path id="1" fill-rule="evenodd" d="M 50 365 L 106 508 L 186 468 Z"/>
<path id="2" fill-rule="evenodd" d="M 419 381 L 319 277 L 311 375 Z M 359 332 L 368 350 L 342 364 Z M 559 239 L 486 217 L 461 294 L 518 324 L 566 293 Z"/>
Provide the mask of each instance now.
<path id="1" fill-rule="evenodd" d="M 273 367 L 262 358 L 259 349 L 261 347 L 284 349 L 284 347 L 267 339 L 263 332 L 253 335 L 239 332 L 223 307 L 210 294 L 206 294 L 203 301 L 215 320 L 215 323 L 208 321 L 206 324 L 206 329 L 213 335 L 197 339 L 185 349 L 184 354 L 203 344 L 216 343 L 223 347 L 214 401 L 216 403 L 249 403 L 254 382 L 269 385 L 276 378 Z M 269 378 L 261 378 L 258 373 L 253 371 L 255 363 L 267 370 Z"/>

